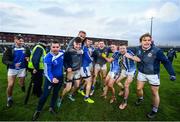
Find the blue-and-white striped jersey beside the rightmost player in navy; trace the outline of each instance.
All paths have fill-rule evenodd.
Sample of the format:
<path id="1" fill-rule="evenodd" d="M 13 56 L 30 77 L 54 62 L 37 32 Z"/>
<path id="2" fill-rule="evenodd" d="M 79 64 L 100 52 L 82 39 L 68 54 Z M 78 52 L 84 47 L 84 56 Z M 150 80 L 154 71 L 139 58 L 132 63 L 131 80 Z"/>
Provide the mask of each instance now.
<path id="1" fill-rule="evenodd" d="M 127 50 L 127 53 L 129 53 L 131 56 L 134 56 L 134 53 L 130 50 Z M 132 59 L 129 59 L 122 55 L 122 63 L 126 71 L 132 72 L 136 70 L 135 62 Z"/>

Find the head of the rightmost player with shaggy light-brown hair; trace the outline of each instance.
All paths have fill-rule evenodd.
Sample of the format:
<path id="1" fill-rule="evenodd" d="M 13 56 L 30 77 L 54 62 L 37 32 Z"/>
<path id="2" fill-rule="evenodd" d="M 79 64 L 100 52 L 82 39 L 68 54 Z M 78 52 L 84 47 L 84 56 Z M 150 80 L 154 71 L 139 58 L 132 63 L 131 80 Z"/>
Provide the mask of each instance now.
<path id="1" fill-rule="evenodd" d="M 149 33 L 143 34 L 139 39 L 141 46 L 144 50 L 149 49 L 152 44 L 152 37 Z"/>

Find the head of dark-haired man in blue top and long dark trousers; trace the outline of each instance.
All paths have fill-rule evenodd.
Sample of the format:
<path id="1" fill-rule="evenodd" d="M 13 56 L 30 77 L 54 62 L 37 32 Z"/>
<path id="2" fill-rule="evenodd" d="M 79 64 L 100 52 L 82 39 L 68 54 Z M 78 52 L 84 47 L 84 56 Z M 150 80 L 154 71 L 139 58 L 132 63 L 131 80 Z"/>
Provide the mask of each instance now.
<path id="1" fill-rule="evenodd" d="M 57 40 L 52 40 L 51 42 L 51 52 L 55 55 L 59 53 L 61 46 L 60 43 Z"/>

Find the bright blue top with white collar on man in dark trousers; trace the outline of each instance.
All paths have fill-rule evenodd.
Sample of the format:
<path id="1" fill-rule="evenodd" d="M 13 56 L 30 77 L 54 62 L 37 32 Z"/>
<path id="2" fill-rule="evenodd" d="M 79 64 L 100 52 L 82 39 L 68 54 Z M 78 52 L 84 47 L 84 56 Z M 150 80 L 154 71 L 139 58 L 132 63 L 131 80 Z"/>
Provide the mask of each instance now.
<path id="1" fill-rule="evenodd" d="M 44 58 L 44 74 L 52 82 L 53 78 L 63 77 L 64 52 L 60 51 L 58 55 L 49 52 Z"/>

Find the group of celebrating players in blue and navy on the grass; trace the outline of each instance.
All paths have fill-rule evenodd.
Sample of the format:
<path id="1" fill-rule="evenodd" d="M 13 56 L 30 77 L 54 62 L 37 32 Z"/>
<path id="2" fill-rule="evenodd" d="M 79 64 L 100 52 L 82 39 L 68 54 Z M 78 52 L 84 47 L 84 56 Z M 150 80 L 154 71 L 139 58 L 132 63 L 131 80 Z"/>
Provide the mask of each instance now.
<path id="1" fill-rule="evenodd" d="M 119 109 L 123 110 L 127 107 L 129 96 L 129 86 L 133 81 L 137 69 L 137 96 L 136 105 L 140 105 L 143 98 L 143 87 L 146 82 L 150 84 L 152 92 L 152 110 L 147 114 L 148 118 L 154 118 L 158 112 L 160 103 L 159 86 L 160 86 L 160 63 L 168 71 L 171 80 L 175 80 L 175 72 L 172 64 L 163 54 L 163 52 L 152 43 L 151 35 L 146 33 L 140 37 L 140 46 L 128 49 L 126 44 L 111 44 L 106 47 L 104 41 L 94 42 L 86 38 L 86 32 L 80 31 L 78 36 L 73 38 L 65 51 L 61 50 L 58 41 L 52 41 L 50 52 L 41 52 L 38 69 L 44 71 L 44 89 L 40 95 L 37 109 L 33 114 L 33 120 L 37 120 L 40 112 L 53 89 L 49 111 L 55 112 L 55 106 L 61 106 L 64 96 L 68 94 L 68 98 L 75 101 L 75 93 L 79 92 L 84 96 L 84 101 L 94 103 L 91 96 L 95 92 L 97 76 L 100 74 L 103 83 L 103 93 L 101 96 L 107 97 L 108 91 L 112 93 L 110 103 L 116 100 L 114 83 L 119 86 L 119 95 L 123 97 L 123 101 L 119 105 Z M 7 106 L 13 103 L 12 89 L 15 78 L 20 77 L 20 85 L 24 89 L 24 78 L 26 75 L 26 61 L 31 60 L 22 47 L 23 38 L 15 37 L 15 45 L 13 48 L 13 60 L 6 59 L 4 63 L 8 65 L 8 87 L 7 87 Z M 39 47 L 40 48 L 40 47 Z M 10 54 L 12 50 L 9 51 Z M 112 55 L 109 55 L 109 53 Z M 32 53 L 31 53 L 32 54 Z M 107 72 L 107 62 L 110 63 L 109 72 Z M 136 63 L 137 62 L 137 63 Z M 37 72 L 35 64 L 29 61 L 28 66 L 32 68 L 32 74 Z M 136 68 L 137 65 L 137 68 Z M 33 69 L 34 68 L 34 69 Z M 65 87 L 59 94 L 63 85 L 65 71 Z M 38 76 L 37 76 L 38 77 Z M 22 79 L 22 80 L 21 80 Z M 122 80 L 125 79 L 124 84 Z"/>

